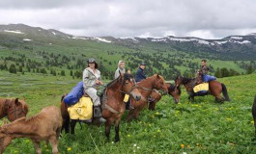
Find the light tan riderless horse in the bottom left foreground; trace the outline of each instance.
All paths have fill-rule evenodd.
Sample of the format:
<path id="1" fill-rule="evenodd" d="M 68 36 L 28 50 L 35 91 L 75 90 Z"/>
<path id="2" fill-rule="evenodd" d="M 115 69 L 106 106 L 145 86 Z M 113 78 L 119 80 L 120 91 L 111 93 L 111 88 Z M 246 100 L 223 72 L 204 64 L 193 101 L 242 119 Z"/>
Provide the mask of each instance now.
<path id="1" fill-rule="evenodd" d="M 36 152 L 42 154 L 40 141 L 50 142 L 52 153 L 58 154 L 58 140 L 61 132 L 62 116 L 60 108 L 49 106 L 36 116 L 20 117 L 0 127 L 0 153 L 16 138 L 30 138 Z"/>

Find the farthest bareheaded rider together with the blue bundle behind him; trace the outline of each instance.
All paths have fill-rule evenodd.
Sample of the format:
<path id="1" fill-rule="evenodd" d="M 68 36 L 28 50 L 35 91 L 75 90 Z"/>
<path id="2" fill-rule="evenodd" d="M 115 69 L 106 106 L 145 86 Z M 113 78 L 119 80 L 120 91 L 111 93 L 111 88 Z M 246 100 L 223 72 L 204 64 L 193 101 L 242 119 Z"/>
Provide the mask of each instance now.
<path id="1" fill-rule="evenodd" d="M 208 75 L 209 67 L 207 66 L 207 61 L 202 60 L 201 61 L 201 69 L 197 71 L 197 82 L 196 85 L 201 84 L 202 82 L 210 82 L 213 80 L 216 80 L 216 77 Z"/>

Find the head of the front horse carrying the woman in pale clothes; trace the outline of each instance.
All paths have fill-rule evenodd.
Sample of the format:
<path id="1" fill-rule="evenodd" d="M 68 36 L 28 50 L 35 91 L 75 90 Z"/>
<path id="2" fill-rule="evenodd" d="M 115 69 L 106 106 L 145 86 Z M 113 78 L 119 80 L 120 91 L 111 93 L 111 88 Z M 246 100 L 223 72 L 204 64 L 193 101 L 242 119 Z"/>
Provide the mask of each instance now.
<path id="1" fill-rule="evenodd" d="M 122 90 L 131 95 L 136 101 L 140 100 L 141 94 L 136 89 L 136 83 L 135 80 L 131 77 L 130 74 L 124 73 L 121 74 L 118 78 L 119 82 L 122 83 Z"/>

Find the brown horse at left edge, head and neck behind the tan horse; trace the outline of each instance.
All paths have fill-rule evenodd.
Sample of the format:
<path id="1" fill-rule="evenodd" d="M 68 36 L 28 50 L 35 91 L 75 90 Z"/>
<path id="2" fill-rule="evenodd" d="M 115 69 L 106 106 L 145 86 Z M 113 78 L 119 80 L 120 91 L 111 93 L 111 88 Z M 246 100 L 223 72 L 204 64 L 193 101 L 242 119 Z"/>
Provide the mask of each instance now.
<path id="1" fill-rule="evenodd" d="M 28 105 L 25 100 L 18 98 L 0 98 L 0 119 L 4 116 L 12 122 L 15 119 L 26 116 Z"/>

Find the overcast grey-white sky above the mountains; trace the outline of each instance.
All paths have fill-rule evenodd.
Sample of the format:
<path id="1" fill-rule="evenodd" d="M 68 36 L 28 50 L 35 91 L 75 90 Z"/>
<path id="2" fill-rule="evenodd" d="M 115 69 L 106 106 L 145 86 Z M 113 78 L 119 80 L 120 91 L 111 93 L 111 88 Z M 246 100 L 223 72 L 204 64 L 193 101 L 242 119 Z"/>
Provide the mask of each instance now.
<path id="1" fill-rule="evenodd" d="M 256 33 L 256 0 L 0 0 L 0 24 L 80 37 L 222 39 Z"/>

